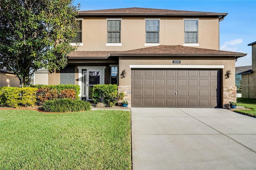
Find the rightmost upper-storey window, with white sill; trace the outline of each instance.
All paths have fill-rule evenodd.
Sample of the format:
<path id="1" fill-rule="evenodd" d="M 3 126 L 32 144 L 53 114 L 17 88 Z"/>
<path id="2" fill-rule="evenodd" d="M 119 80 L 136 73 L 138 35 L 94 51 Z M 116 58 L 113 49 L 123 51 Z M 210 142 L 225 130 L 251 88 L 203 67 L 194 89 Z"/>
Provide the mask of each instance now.
<path id="1" fill-rule="evenodd" d="M 184 20 L 184 42 L 198 43 L 198 20 Z"/>

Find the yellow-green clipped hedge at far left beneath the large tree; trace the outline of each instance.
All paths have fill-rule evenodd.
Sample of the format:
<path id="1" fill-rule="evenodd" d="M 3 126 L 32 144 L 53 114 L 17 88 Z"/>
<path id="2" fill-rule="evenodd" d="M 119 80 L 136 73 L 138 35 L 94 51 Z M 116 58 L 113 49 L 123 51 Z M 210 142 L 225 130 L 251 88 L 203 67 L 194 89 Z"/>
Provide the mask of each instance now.
<path id="1" fill-rule="evenodd" d="M 0 89 L 1 105 L 7 107 L 34 106 L 37 90 L 34 87 L 2 87 Z"/>

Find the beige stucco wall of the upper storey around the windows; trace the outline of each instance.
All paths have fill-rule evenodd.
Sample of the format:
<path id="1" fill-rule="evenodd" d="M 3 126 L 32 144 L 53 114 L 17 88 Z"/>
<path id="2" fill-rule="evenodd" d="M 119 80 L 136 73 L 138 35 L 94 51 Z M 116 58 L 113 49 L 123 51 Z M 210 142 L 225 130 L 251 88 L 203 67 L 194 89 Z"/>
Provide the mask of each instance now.
<path id="1" fill-rule="evenodd" d="M 116 17 L 120 18 L 120 17 Z M 161 45 L 183 45 L 184 18 L 160 18 L 159 42 Z M 198 17 L 197 17 L 198 18 Z M 84 18 L 82 20 L 82 43 L 80 51 L 125 51 L 148 47 L 146 38 L 145 18 L 123 17 L 121 21 L 122 46 L 106 46 L 107 20 L 106 18 Z M 218 18 L 199 18 L 198 43 L 200 48 L 219 49 L 219 21 Z"/>

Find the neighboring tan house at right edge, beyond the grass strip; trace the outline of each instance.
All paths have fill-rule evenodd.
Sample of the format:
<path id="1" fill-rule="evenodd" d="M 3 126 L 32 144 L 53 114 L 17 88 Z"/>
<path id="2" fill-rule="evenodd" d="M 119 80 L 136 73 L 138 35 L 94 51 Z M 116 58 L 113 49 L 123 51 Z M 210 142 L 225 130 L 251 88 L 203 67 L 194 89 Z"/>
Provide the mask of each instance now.
<path id="1" fill-rule="evenodd" d="M 252 68 L 239 75 L 242 75 L 242 97 L 256 99 L 256 42 L 252 46 Z"/>

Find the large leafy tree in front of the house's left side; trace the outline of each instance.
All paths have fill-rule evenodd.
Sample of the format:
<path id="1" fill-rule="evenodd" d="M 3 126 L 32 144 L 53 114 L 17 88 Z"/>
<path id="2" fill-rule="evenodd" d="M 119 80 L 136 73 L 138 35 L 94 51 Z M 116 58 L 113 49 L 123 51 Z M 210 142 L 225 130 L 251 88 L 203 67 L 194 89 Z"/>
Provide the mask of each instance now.
<path id="1" fill-rule="evenodd" d="M 20 85 L 30 85 L 33 73 L 64 68 L 74 51 L 79 6 L 73 0 L 1 0 L 0 68 L 12 71 Z"/>

